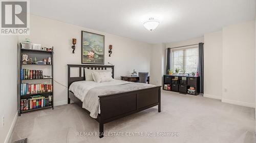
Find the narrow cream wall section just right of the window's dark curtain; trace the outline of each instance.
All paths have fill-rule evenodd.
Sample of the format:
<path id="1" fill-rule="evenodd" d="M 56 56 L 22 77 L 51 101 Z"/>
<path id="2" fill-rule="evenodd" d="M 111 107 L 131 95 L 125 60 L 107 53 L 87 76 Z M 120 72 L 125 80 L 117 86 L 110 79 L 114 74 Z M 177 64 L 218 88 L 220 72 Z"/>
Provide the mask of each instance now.
<path id="1" fill-rule="evenodd" d="M 204 35 L 204 97 L 222 98 L 222 31 Z"/>

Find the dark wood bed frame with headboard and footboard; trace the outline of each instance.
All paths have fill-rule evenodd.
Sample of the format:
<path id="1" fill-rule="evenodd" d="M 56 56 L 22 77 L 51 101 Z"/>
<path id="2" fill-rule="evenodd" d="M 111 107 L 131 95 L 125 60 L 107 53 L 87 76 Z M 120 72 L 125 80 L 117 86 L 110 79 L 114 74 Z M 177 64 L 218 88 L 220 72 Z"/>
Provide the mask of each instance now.
<path id="1" fill-rule="evenodd" d="M 70 69 L 79 68 L 79 76 L 71 77 Z M 84 68 L 87 69 L 112 69 L 114 78 L 114 66 L 109 65 L 68 65 L 68 88 L 72 82 L 85 80 Z M 83 76 L 82 76 L 83 71 Z M 68 90 L 68 104 L 70 100 L 82 107 L 82 102 Z M 100 114 L 96 121 L 99 122 L 99 137 L 103 137 L 103 125 L 116 119 L 132 115 L 136 112 L 158 105 L 158 112 L 161 112 L 161 86 L 124 92 L 110 95 L 99 95 Z M 83 108 L 84 109 L 84 108 Z M 86 109 L 84 109 L 86 110 Z M 88 110 L 86 110 L 90 113 Z"/>

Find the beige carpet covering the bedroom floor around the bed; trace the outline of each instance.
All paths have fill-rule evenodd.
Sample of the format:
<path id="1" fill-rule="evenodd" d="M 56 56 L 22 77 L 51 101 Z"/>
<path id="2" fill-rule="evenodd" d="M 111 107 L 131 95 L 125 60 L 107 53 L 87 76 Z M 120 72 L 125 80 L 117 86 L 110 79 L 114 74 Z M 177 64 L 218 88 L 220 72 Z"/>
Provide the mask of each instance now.
<path id="1" fill-rule="evenodd" d="M 98 132 L 97 121 L 75 104 L 68 104 L 56 106 L 54 110 L 34 111 L 18 117 L 12 141 L 27 137 L 29 143 L 242 143 L 256 142 L 254 127 L 254 108 L 222 103 L 202 96 L 163 91 L 162 112 L 159 113 L 157 107 L 153 107 L 104 125 L 105 133 L 115 132 L 119 136 L 99 138 L 86 135 L 86 132 Z M 77 132 L 82 132 L 82 136 L 78 136 Z M 165 136 L 157 136 L 158 132 L 164 132 Z M 178 135 L 166 135 L 173 132 Z M 137 136 L 131 133 L 137 133 Z M 147 136 L 138 135 L 143 133 L 147 133 Z"/>

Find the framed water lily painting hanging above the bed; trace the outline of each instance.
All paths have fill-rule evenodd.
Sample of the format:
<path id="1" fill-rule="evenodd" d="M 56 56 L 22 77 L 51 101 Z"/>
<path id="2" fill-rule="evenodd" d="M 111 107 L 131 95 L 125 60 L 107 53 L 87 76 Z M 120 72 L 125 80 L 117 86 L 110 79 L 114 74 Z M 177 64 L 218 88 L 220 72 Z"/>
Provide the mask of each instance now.
<path id="1" fill-rule="evenodd" d="M 82 64 L 104 64 L 105 36 L 82 31 Z"/>

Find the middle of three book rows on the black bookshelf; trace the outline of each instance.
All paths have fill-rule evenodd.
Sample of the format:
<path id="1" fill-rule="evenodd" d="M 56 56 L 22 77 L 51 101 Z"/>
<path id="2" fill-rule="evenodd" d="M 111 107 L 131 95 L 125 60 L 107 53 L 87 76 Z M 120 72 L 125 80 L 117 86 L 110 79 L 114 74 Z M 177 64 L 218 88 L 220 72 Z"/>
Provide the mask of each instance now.
<path id="1" fill-rule="evenodd" d="M 52 84 L 39 83 L 39 84 L 20 84 L 20 95 L 39 94 L 52 91 Z"/>

